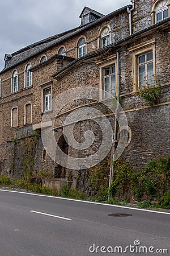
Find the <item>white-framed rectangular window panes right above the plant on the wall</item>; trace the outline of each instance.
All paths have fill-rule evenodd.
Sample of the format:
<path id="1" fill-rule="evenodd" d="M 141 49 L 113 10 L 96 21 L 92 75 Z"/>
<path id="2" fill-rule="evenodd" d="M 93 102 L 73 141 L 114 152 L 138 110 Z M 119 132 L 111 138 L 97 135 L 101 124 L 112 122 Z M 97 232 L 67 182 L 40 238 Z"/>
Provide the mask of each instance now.
<path id="1" fill-rule="evenodd" d="M 149 51 L 138 56 L 138 86 L 151 85 L 154 76 L 153 52 Z"/>

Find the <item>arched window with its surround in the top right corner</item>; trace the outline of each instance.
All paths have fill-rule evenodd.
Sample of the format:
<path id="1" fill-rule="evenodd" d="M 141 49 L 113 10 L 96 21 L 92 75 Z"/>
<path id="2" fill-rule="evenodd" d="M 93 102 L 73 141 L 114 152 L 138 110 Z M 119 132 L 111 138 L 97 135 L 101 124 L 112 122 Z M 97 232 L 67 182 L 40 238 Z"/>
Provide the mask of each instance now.
<path id="1" fill-rule="evenodd" d="M 155 1 L 151 11 L 152 24 L 168 18 L 170 13 L 169 3 L 170 3 L 169 0 Z"/>

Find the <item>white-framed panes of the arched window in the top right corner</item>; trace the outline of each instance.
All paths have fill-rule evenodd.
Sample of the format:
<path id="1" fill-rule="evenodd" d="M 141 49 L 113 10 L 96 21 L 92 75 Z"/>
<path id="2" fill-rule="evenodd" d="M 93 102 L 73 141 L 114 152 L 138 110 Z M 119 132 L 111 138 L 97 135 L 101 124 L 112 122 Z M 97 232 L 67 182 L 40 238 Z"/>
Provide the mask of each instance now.
<path id="1" fill-rule="evenodd" d="M 155 9 L 155 22 L 160 22 L 168 18 L 168 1 L 163 0 L 158 2 Z"/>

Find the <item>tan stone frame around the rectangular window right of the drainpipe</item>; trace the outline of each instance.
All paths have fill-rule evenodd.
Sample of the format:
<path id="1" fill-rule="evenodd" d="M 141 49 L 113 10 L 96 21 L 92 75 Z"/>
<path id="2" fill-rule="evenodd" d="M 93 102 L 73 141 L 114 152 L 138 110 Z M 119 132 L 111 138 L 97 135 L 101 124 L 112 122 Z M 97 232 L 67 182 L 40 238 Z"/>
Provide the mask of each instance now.
<path id="1" fill-rule="evenodd" d="M 155 53 L 156 40 L 151 39 L 147 42 L 138 44 L 137 46 L 129 48 L 132 53 L 132 77 L 133 77 L 133 92 L 139 90 L 139 76 L 138 76 L 138 56 L 152 51 L 153 54 L 153 77 L 156 80 L 156 53 Z"/>

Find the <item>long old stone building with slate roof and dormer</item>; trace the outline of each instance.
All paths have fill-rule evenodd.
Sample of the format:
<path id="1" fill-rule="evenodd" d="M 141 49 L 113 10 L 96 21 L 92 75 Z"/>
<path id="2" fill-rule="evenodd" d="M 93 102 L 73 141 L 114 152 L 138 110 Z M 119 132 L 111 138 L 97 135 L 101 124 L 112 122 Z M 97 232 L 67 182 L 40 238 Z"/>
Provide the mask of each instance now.
<path id="1" fill-rule="evenodd" d="M 115 114 L 105 106 L 107 93 L 99 92 L 98 101 L 76 98 L 74 90 L 67 94 L 69 89 L 87 86 L 121 98 L 129 126 L 123 155 L 135 168 L 169 154 L 170 0 L 135 0 L 108 15 L 84 7 L 80 19 L 79 27 L 5 55 L 5 68 L 0 72 L 1 174 L 20 177 L 32 170 L 45 171 L 49 177 L 67 177 L 77 185 L 77 169 L 86 169 L 86 164 L 74 169 L 62 164 L 62 159 L 56 162 L 59 153 L 53 148 L 51 157 L 48 152 L 48 141 L 41 139 L 41 122 L 45 118 L 65 155 L 79 159 L 97 154 L 108 134 L 102 134 L 96 120 L 102 123 L 103 114 L 114 130 Z M 150 106 L 135 92 L 155 83 L 160 85 L 161 98 Z M 65 98 L 66 104 L 61 101 L 62 108 L 56 112 L 58 105 L 53 100 L 62 93 L 71 97 L 72 92 L 72 101 Z M 79 112 L 82 116 L 73 122 L 76 142 L 84 143 L 89 130 L 95 139 L 88 148 L 74 148 L 63 136 L 63 128 L 69 126 L 66 119 L 84 107 L 102 114 L 90 120 Z M 80 185 L 86 191 L 86 171 L 81 177 Z"/>

